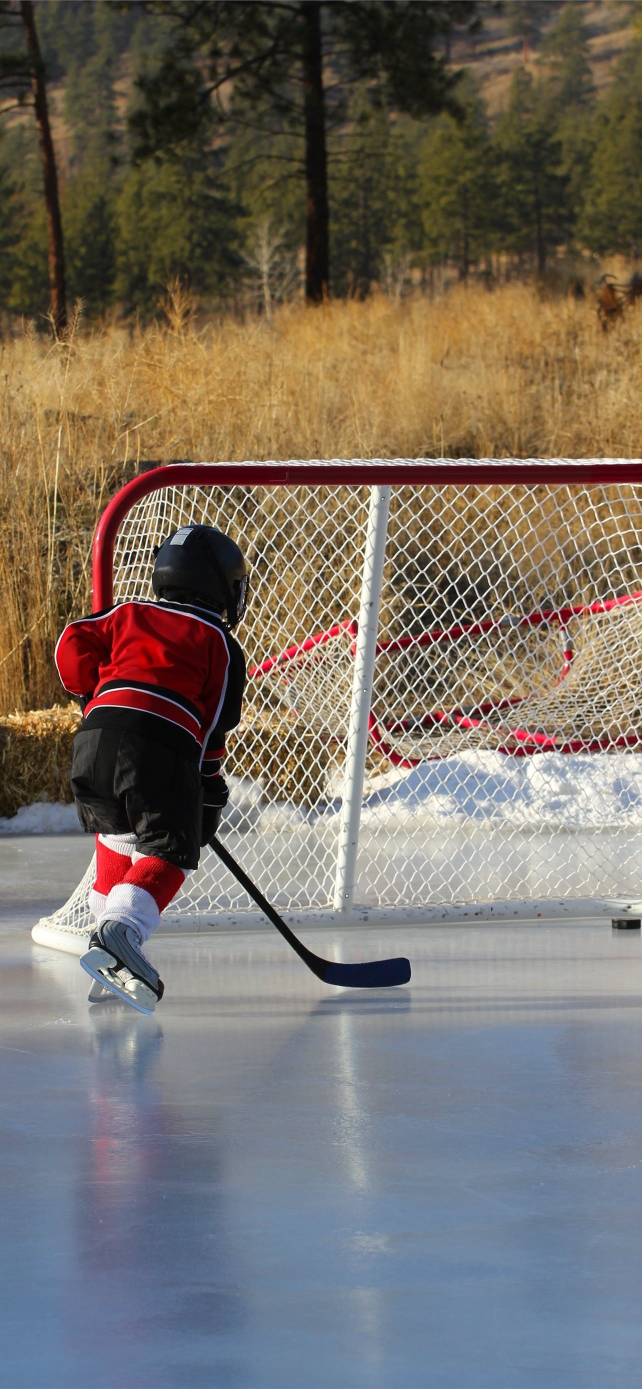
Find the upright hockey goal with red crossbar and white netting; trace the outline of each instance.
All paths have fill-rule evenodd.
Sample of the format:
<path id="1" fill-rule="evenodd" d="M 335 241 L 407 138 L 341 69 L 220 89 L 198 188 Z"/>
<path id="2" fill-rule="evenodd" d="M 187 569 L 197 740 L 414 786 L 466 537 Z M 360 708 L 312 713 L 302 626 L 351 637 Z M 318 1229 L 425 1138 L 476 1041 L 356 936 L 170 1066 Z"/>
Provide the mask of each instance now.
<path id="1" fill-rule="evenodd" d="M 170 464 L 107 506 L 93 606 L 179 525 L 252 568 L 222 832 L 295 926 L 621 914 L 642 895 L 642 463 Z M 33 928 L 81 951 L 92 868 Z M 167 931 L 257 925 L 215 856 Z"/>

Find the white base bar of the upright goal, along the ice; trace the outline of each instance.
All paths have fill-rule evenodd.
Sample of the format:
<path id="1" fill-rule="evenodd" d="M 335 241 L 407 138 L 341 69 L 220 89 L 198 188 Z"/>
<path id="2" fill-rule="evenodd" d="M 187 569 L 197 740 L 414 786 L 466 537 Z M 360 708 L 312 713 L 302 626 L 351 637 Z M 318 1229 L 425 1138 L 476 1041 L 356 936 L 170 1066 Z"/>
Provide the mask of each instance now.
<path id="1" fill-rule="evenodd" d="M 282 917 L 292 931 L 314 931 L 347 926 L 466 926 L 510 921 L 582 921 L 586 918 L 611 921 L 639 920 L 641 903 L 606 897 L 542 897 L 509 901 L 452 901 L 427 903 L 424 907 L 354 907 L 340 911 L 283 911 Z M 261 911 L 215 911 L 206 914 L 185 914 L 163 917 L 158 931 L 161 936 L 201 936 L 236 933 L 239 931 L 271 929 Z M 32 940 L 51 950 L 81 956 L 88 947 L 89 935 L 64 931 L 49 925 L 44 917 L 32 928 Z"/>

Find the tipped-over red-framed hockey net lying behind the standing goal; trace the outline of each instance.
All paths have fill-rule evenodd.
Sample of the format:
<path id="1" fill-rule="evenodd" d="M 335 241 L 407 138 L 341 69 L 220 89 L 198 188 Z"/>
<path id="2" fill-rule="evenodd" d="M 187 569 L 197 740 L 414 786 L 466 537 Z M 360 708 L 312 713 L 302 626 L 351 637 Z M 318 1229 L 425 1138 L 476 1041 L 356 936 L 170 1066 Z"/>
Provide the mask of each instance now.
<path id="1" fill-rule="evenodd" d="M 374 746 L 399 767 L 464 747 L 527 756 L 635 746 L 641 604 L 642 592 L 379 643 Z M 352 622 L 331 628 L 252 676 L 271 679 L 297 718 L 346 738 L 356 635 Z"/>

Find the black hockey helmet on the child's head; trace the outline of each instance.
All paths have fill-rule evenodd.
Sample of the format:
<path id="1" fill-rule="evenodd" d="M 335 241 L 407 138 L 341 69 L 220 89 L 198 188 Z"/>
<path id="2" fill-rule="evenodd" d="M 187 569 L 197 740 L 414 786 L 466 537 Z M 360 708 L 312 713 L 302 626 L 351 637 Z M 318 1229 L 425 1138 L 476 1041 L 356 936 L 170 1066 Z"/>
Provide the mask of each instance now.
<path id="1" fill-rule="evenodd" d="M 250 574 L 243 551 L 229 535 L 210 525 L 182 525 L 156 556 L 151 586 L 157 599 L 171 590 L 189 593 L 236 626 L 247 607 Z"/>

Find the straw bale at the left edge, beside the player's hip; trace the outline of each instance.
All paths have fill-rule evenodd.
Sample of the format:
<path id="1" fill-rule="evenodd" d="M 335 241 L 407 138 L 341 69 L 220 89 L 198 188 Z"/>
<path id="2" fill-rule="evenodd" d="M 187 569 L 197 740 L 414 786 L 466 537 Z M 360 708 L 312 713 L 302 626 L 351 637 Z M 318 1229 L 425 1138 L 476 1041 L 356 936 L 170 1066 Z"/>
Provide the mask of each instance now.
<path id="1" fill-rule="evenodd" d="M 71 801 L 71 743 L 81 722 L 75 706 L 0 718 L 0 815 L 36 800 Z"/>

